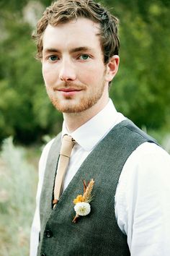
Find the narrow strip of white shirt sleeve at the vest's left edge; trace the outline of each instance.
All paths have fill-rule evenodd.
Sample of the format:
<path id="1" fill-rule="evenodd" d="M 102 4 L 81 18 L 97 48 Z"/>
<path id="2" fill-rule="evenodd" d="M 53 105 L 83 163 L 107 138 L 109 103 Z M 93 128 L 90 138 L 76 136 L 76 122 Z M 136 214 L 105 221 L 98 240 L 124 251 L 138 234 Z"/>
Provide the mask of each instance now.
<path id="1" fill-rule="evenodd" d="M 39 161 L 39 174 L 38 174 L 38 184 L 37 184 L 37 195 L 36 195 L 36 208 L 35 215 L 32 221 L 31 233 L 30 233 L 30 256 L 37 255 L 37 247 L 39 244 L 39 234 L 40 234 L 40 194 L 42 190 L 42 183 L 45 174 L 45 166 L 47 163 L 48 153 L 53 140 L 50 140 L 45 148 L 42 150 L 42 154 Z"/>

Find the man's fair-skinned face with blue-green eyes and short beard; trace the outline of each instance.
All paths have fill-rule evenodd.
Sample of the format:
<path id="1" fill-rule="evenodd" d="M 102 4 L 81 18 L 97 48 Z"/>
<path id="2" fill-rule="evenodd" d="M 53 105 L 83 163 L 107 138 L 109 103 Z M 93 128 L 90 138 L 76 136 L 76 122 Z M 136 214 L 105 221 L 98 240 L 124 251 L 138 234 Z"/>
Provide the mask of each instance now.
<path id="1" fill-rule="evenodd" d="M 79 113 L 108 101 L 108 81 L 99 42 L 99 25 L 79 18 L 55 27 L 42 38 L 42 74 L 53 105 Z"/>

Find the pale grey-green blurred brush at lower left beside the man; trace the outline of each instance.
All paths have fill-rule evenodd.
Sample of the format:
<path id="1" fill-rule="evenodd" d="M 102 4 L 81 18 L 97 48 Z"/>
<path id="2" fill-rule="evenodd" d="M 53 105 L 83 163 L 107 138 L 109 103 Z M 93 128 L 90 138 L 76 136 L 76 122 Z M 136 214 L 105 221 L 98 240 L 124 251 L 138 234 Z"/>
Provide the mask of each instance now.
<path id="1" fill-rule="evenodd" d="M 27 159 L 28 150 L 15 147 L 12 137 L 4 140 L 0 153 L 0 256 L 29 255 L 37 172 L 32 157 Z"/>

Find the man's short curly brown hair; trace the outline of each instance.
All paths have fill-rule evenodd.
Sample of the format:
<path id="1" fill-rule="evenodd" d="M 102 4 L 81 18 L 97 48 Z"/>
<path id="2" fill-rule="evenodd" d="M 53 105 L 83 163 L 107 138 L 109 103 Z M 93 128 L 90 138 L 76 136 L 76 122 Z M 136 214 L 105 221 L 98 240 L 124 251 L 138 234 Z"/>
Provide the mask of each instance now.
<path id="1" fill-rule="evenodd" d="M 42 59 L 42 36 L 48 24 L 56 26 L 79 17 L 85 17 L 100 25 L 99 35 L 104 64 L 107 64 L 111 56 L 119 54 L 117 17 L 92 0 L 58 0 L 45 9 L 41 19 L 37 22 L 37 30 L 32 35 L 37 43 L 37 59 Z"/>

